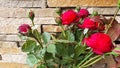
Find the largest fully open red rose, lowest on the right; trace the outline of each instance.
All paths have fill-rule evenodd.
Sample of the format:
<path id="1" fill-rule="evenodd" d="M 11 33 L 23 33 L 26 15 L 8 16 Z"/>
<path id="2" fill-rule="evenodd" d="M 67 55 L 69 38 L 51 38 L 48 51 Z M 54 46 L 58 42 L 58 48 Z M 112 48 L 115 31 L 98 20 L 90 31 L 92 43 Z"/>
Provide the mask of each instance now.
<path id="1" fill-rule="evenodd" d="M 84 39 L 84 43 L 91 47 L 94 53 L 100 55 L 110 52 L 113 47 L 110 37 L 103 33 L 92 34 L 90 37 Z"/>

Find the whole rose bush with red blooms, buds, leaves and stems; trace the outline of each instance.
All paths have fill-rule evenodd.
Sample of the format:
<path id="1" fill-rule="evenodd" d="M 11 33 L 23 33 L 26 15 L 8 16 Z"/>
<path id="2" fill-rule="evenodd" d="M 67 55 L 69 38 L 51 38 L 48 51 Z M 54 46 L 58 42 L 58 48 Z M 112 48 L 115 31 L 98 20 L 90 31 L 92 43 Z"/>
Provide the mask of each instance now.
<path id="1" fill-rule="evenodd" d="M 118 10 L 109 22 L 95 12 L 89 14 L 87 9 L 59 9 L 55 20 L 61 33 L 56 35 L 40 33 L 35 28 L 35 14 L 30 11 L 32 25 L 23 24 L 18 28 L 22 37 L 26 37 L 22 51 L 27 53 L 27 63 L 37 68 L 88 68 L 103 57 L 119 56 L 120 48 L 113 45 L 107 34 L 113 28 Z"/>

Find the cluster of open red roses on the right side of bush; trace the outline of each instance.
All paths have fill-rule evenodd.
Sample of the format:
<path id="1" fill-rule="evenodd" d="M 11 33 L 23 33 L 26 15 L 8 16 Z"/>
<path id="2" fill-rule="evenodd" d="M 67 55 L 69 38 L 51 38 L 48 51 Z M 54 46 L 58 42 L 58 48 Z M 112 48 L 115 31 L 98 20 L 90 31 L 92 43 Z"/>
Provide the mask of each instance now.
<path id="1" fill-rule="evenodd" d="M 82 21 L 80 21 L 82 19 Z M 111 38 L 102 32 L 105 30 L 104 23 L 95 21 L 93 17 L 89 16 L 87 9 L 80 9 L 78 12 L 74 10 L 67 10 L 61 15 L 63 25 L 71 25 L 73 23 L 80 23 L 77 26 L 81 29 L 98 30 L 97 33 L 84 38 L 84 43 L 91 47 L 93 52 L 102 55 L 103 53 L 110 52 L 113 48 Z"/>

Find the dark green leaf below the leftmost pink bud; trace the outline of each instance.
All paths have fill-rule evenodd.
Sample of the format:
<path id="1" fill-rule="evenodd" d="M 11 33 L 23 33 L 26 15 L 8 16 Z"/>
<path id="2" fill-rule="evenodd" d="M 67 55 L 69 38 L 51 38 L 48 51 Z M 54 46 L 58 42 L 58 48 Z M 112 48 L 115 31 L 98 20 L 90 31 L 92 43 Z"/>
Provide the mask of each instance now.
<path id="1" fill-rule="evenodd" d="M 22 51 L 23 52 L 31 52 L 32 50 L 34 50 L 34 48 L 36 47 L 36 42 L 33 40 L 26 40 L 26 42 L 23 44 L 22 46 Z"/>

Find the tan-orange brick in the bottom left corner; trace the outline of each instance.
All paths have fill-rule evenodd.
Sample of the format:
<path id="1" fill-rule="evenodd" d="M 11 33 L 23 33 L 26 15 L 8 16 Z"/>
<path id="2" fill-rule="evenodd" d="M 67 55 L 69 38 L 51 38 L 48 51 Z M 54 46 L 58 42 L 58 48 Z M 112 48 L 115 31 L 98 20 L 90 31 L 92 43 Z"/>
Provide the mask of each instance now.
<path id="1" fill-rule="evenodd" d="M 0 62 L 0 68 L 30 68 L 30 67 L 26 64 L 21 64 L 21 63 Z"/>

